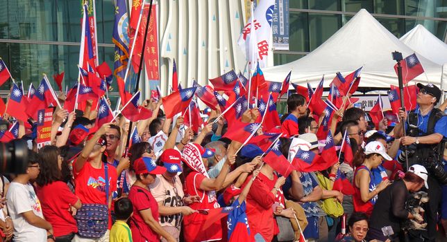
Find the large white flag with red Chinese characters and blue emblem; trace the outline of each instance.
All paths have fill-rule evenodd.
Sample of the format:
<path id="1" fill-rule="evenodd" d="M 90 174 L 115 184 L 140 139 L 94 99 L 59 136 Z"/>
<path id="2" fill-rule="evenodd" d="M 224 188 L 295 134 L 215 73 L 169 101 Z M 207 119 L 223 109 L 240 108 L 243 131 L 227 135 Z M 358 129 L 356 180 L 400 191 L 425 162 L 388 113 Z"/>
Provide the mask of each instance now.
<path id="1" fill-rule="evenodd" d="M 258 59 L 261 67 L 267 66 L 267 53 L 270 47 L 271 39 L 271 23 L 273 20 L 273 8 L 275 7 L 275 1 L 273 0 L 262 0 L 256 7 L 254 14 L 248 20 L 248 24 L 244 26 L 239 39 L 237 40 L 237 45 L 242 48 L 242 51 L 246 59 L 250 62 L 254 62 Z M 256 40 L 253 41 L 251 38 L 255 34 Z M 252 59 L 251 54 L 253 51 L 251 48 L 257 47 L 258 55 L 255 59 Z"/>

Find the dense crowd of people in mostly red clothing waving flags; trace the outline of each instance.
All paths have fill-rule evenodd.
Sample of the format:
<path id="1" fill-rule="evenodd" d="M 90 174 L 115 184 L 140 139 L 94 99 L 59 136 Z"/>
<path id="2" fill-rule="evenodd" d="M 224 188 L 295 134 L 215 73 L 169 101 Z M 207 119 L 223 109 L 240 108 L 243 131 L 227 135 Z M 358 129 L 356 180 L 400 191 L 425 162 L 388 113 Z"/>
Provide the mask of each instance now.
<path id="1" fill-rule="evenodd" d="M 376 129 L 352 104 L 335 111 L 326 124 L 341 148 L 332 164 L 323 170 L 297 168 L 287 176 L 264 162 L 266 151 L 226 138 L 233 120 L 221 118 L 219 110 L 211 111 L 196 133 L 185 127 L 183 116 L 166 118 L 161 102 L 154 100 L 144 103 L 152 117 L 130 128 L 121 115 L 98 127 L 94 109 L 55 108 L 51 145 L 40 149 L 35 133 L 19 121 L 18 138 L 28 142 L 28 160 L 24 174 L 1 178 L 0 237 L 36 242 L 446 240 L 447 102 L 439 102 L 437 86 L 418 87 L 416 109 L 401 110 L 405 121 L 394 127 L 384 118 Z M 63 97 L 60 102 L 63 106 Z M 279 142 L 270 146 L 289 162 L 297 150 L 319 155 L 326 140 L 315 133 L 325 113 L 314 115 L 296 93 L 287 98 L 287 107 L 276 127 Z M 238 122 L 253 123 L 259 116 L 258 108 L 247 109 Z M 140 140 L 131 137 L 129 145 L 133 129 Z M 258 129 L 252 136 L 264 133 Z M 352 160 L 343 148 L 347 143 Z M 414 194 L 428 201 L 419 197 L 410 204 Z"/>

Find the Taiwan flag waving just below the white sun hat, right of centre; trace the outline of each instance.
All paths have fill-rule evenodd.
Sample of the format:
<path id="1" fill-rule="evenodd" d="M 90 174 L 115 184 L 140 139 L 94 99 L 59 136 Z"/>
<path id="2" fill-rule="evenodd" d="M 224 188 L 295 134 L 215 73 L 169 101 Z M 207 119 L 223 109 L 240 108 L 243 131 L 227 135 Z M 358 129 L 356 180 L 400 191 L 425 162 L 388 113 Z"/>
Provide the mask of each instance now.
<path id="1" fill-rule="evenodd" d="M 303 172 L 322 171 L 328 168 L 321 156 L 312 151 L 303 151 L 302 149 L 298 149 L 292 164 L 294 164 L 296 170 Z"/>

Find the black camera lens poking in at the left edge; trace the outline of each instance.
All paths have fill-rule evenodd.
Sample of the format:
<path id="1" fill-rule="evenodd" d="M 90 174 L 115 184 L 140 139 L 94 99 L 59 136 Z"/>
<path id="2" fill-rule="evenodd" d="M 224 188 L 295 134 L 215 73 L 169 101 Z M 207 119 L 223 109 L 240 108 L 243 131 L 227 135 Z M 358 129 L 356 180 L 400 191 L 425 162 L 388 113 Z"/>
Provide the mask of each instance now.
<path id="1" fill-rule="evenodd" d="M 0 133 L 8 130 L 8 122 L 0 120 Z M 25 140 L 0 142 L 0 173 L 24 174 L 28 165 L 28 145 Z"/>

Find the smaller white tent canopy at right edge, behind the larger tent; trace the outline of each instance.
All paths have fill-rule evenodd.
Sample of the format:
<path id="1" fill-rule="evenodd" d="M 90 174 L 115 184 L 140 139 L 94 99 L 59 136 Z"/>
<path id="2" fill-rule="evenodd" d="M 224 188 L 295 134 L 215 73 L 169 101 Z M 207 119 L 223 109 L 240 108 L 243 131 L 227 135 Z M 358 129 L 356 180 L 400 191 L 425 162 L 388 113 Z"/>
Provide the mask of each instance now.
<path id="1" fill-rule="evenodd" d="M 416 55 L 420 54 L 440 65 L 447 64 L 447 44 L 421 24 L 418 24 L 403 37 L 400 37 L 400 41 L 412 48 Z"/>

